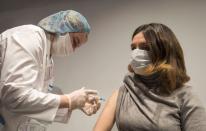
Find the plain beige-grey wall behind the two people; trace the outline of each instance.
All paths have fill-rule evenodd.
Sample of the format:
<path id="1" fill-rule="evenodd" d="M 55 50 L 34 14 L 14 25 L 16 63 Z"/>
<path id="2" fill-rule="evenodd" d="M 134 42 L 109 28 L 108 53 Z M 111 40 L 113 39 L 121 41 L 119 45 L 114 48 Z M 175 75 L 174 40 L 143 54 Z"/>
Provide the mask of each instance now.
<path id="1" fill-rule="evenodd" d="M 57 3 L 51 0 L 49 3 L 45 0 L 42 5 L 40 0 L 30 3 L 24 0 L 24 3 L 16 2 L 12 8 L 5 4 L 7 8 L 0 8 L 1 31 L 7 27 L 36 23 L 60 9 L 77 10 L 91 24 L 92 32 L 85 46 L 69 58 L 55 58 L 55 83 L 65 92 L 86 86 L 99 90 L 100 95 L 108 99 L 112 91 L 122 85 L 127 73 L 134 29 L 141 24 L 160 22 L 177 35 L 185 53 L 190 84 L 206 105 L 206 1 L 62 0 Z M 69 124 L 55 123 L 49 131 L 91 131 L 98 115 L 87 117 L 74 111 Z"/>

